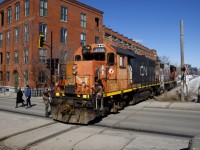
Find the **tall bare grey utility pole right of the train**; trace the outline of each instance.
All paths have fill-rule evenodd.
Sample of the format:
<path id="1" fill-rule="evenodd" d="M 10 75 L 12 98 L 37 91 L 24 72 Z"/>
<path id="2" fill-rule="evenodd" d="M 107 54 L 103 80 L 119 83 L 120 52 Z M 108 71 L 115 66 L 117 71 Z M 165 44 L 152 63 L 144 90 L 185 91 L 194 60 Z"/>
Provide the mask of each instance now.
<path id="1" fill-rule="evenodd" d="M 185 79 L 185 71 L 184 71 L 184 36 L 183 36 L 183 20 L 180 22 L 180 46 L 181 46 L 181 101 L 185 100 L 184 96 L 184 79 Z"/>

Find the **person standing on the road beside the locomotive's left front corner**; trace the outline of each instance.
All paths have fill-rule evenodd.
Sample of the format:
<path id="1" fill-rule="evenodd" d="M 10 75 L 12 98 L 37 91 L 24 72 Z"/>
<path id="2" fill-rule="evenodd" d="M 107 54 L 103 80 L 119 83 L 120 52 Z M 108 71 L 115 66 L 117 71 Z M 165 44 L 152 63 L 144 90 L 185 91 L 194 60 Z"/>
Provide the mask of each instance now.
<path id="1" fill-rule="evenodd" d="M 45 116 L 49 117 L 49 106 L 51 102 L 51 88 L 45 85 L 44 91 L 43 91 L 43 101 L 45 104 Z"/>

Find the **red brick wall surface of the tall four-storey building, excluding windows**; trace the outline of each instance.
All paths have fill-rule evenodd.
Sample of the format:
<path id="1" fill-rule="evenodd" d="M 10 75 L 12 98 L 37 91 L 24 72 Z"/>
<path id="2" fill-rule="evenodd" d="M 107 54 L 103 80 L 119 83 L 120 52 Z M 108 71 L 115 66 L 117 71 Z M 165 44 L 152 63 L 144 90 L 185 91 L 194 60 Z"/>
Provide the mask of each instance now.
<path id="1" fill-rule="evenodd" d="M 20 19 L 15 21 L 15 5 L 20 3 Z M 47 45 L 51 45 L 51 31 L 53 35 L 53 57 L 61 57 L 67 53 L 67 61 L 73 60 L 73 52 L 80 47 L 80 34 L 86 34 L 86 43 L 94 43 L 95 36 L 100 38 L 100 43 L 103 42 L 103 12 L 95 8 L 89 7 L 75 0 L 56 0 L 48 1 L 48 14 L 47 17 L 41 17 L 39 15 L 39 0 L 30 1 L 30 15 L 24 17 L 24 0 L 5 0 L 0 4 L 0 12 L 4 16 L 0 18 L 0 22 L 3 20 L 3 26 L 0 27 L 0 33 L 3 34 L 3 45 L 0 47 L 0 53 L 2 54 L 2 64 L 0 64 L 0 71 L 2 73 L 1 84 L 3 86 L 15 86 L 16 82 L 14 74 L 18 74 L 18 86 L 25 86 L 23 72 L 28 70 L 28 84 L 31 87 L 35 87 L 38 72 L 33 71 L 37 66 L 34 61 L 39 59 L 38 38 L 39 38 L 39 23 L 47 24 Z M 61 6 L 67 7 L 67 22 L 63 22 L 60 19 Z M 7 9 L 12 9 L 12 21 L 7 24 Z M 86 14 L 86 28 L 80 26 L 80 14 Z M 2 16 L 1 15 L 1 16 Z M 98 29 L 95 18 L 98 18 Z M 29 25 L 29 41 L 26 43 L 23 41 L 24 24 Z M 19 26 L 19 43 L 14 43 L 14 29 Z M 61 28 L 67 29 L 67 43 L 60 43 L 60 30 Z M 11 31 L 10 45 L 6 44 L 7 30 Z M 28 47 L 28 59 L 29 63 L 24 64 L 24 47 Z M 50 48 L 47 49 L 47 58 L 50 57 Z M 19 52 L 19 63 L 14 63 L 14 51 Z M 10 52 L 10 64 L 6 64 L 6 54 Z M 40 66 L 39 66 L 40 67 Z M 41 66 L 46 69 L 44 66 Z M 41 68 L 40 67 L 40 68 Z M 10 81 L 6 81 L 6 72 L 10 72 Z M 48 70 L 47 70 L 48 71 Z"/>

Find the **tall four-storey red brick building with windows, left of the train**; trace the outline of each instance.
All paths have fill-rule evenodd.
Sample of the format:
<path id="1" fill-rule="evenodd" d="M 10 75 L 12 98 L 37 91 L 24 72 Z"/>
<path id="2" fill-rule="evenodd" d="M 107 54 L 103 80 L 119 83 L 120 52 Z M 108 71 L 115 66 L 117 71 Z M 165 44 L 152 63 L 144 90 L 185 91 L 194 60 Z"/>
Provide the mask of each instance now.
<path id="1" fill-rule="evenodd" d="M 0 85 L 36 87 L 49 82 L 45 62 L 50 58 L 51 35 L 52 57 L 65 64 L 81 45 L 103 42 L 102 20 L 102 11 L 76 0 L 4 0 L 0 3 Z M 43 48 L 38 48 L 39 34 L 45 35 Z"/>

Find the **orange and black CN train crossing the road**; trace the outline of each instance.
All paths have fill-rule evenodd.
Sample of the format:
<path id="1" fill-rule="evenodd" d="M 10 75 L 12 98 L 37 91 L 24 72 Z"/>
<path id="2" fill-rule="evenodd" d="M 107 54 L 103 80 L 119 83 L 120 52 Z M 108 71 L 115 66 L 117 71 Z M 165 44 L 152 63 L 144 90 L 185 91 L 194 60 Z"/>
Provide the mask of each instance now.
<path id="1" fill-rule="evenodd" d="M 91 44 L 77 49 L 74 61 L 66 64 L 66 77 L 58 81 L 51 101 L 54 120 L 89 124 L 162 90 L 176 86 L 176 67 L 161 64 L 108 44 Z M 103 97 L 95 99 L 92 86 L 100 80 Z"/>

